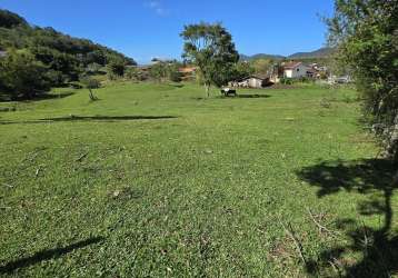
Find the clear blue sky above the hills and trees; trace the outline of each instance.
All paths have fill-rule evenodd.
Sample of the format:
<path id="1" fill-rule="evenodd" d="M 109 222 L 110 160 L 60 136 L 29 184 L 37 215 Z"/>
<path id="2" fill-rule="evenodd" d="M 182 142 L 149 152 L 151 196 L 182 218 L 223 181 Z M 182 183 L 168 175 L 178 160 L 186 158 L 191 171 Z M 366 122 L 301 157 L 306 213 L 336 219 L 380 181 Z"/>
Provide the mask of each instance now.
<path id="1" fill-rule="evenodd" d="M 146 63 L 179 59 L 183 26 L 200 21 L 221 22 L 243 54 L 317 50 L 334 0 L 0 0 L 0 9 Z"/>

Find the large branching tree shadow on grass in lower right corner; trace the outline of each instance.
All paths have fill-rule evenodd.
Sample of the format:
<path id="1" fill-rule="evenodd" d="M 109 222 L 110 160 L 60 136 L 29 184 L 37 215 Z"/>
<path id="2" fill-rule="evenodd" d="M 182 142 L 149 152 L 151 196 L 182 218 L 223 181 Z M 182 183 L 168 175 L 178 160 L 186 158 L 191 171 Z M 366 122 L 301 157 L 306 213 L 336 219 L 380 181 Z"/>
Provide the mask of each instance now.
<path id="1" fill-rule="evenodd" d="M 339 219 L 351 244 L 324 250 L 317 261 L 309 261 L 308 272 L 326 270 L 337 261 L 340 277 L 390 277 L 398 272 L 398 236 L 391 229 L 394 219 L 391 198 L 398 187 L 395 167 L 388 160 L 367 159 L 359 161 L 322 162 L 308 167 L 298 176 L 319 188 L 318 197 L 337 193 L 341 190 L 369 195 L 369 200 L 358 203 L 362 216 L 379 215 L 384 222 L 378 229 L 366 227 L 358 219 Z M 375 192 L 381 193 L 376 198 Z M 347 255 L 361 254 L 361 259 L 347 261 Z"/>

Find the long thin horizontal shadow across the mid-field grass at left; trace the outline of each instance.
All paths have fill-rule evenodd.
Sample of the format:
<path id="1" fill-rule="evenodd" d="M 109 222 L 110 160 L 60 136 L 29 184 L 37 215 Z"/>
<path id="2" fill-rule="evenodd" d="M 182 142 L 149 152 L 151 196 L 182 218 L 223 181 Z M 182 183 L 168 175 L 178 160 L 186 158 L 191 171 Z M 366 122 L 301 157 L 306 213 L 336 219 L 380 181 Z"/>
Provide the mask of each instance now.
<path id="1" fill-rule="evenodd" d="M 68 122 L 68 121 L 132 121 L 132 120 L 162 120 L 177 119 L 175 116 L 69 116 L 60 118 L 44 118 L 39 120 L 28 121 L 0 121 L 0 125 L 17 125 L 17 123 L 48 123 L 48 122 Z"/>

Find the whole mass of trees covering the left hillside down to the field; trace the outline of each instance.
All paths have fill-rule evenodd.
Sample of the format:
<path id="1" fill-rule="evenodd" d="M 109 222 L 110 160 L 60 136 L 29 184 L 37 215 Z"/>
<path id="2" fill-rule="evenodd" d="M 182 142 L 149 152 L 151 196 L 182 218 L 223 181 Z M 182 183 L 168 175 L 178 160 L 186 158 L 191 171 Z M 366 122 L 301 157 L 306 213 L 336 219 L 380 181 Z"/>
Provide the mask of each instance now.
<path id="1" fill-rule="evenodd" d="M 84 72 L 100 67 L 136 64 L 133 59 L 90 40 L 72 38 L 52 28 L 30 26 L 7 10 L 0 10 L 0 51 L 3 51 L 0 90 L 12 98 L 30 98 L 36 91 L 78 81 Z M 16 72 L 34 75 L 40 80 L 24 80 L 24 75 L 17 77 Z M 26 88 L 31 89 L 27 91 Z"/>

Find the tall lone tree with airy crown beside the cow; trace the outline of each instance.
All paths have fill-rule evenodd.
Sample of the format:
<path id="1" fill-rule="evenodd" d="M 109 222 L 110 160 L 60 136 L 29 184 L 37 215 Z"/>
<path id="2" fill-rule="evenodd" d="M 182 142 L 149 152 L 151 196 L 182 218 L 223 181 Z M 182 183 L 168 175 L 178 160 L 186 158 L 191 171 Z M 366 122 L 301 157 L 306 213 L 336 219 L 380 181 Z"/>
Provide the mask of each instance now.
<path id="1" fill-rule="evenodd" d="M 186 61 L 198 67 L 201 82 L 209 97 L 210 86 L 221 87 L 230 81 L 239 54 L 231 34 L 220 24 L 199 23 L 186 26 L 181 33 L 185 40 Z"/>

